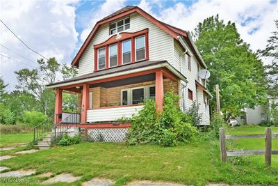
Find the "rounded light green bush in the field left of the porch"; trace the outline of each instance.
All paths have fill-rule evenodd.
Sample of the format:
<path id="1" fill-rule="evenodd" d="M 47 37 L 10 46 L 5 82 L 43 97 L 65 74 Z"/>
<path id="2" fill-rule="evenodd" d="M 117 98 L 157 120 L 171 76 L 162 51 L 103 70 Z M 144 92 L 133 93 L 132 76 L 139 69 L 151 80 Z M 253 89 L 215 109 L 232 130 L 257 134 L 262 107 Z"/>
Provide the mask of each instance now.
<path id="1" fill-rule="evenodd" d="M 35 125 L 44 122 L 47 119 L 47 116 L 40 111 L 25 111 L 22 118 L 24 123 L 34 127 Z"/>

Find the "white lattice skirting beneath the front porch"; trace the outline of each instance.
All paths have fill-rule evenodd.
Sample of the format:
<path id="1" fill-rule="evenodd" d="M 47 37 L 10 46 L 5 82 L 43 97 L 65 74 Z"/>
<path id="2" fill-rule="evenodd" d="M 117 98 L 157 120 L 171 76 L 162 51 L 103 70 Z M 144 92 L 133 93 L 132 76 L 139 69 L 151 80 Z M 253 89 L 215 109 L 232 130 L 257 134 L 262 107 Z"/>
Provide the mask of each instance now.
<path id="1" fill-rule="evenodd" d="M 127 128 L 99 128 L 88 129 L 88 137 L 92 141 L 124 141 L 128 129 Z"/>

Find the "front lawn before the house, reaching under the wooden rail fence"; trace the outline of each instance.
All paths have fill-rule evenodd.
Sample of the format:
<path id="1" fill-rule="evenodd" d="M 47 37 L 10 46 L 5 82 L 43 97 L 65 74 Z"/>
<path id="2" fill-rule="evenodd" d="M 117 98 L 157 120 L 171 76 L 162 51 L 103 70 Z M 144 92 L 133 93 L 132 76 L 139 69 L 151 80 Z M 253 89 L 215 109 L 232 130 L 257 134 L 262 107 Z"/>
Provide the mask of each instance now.
<path id="1" fill-rule="evenodd" d="M 273 128 L 274 131 L 278 132 L 278 128 Z M 240 132 L 257 134 L 263 133 L 264 128 L 236 127 L 229 130 L 230 134 Z M 257 142 L 241 139 L 234 141 L 238 149 L 256 149 L 261 146 L 256 146 Z M 195 144 L 172 148 L 155 145 L 83 143 L 17 155 L 1 162 L 1 166 L 12 167 L 13 170 L 36 169 L 37 174 L 51 171 L 54 174 L 65 172 L 82 176 L 81 180 L 70 185 L 81 185 L 83 181 L 94 177 L 111 178 L 116 181 L 115 185 L 125 185 L 132 180 L 159 180 L 186 185 L 278 185 L 278 164 L 274 163 L 277 162 L 278 156 L 272 157 L 271 167 L 264 166 L 263 156 L 229 157 L 227 164 L 222 164 L 219 157 L 218 140 L 200 140 Z M 29 185 L 40 185 L 44 179 L 31 176 L 26 182 Z"/>

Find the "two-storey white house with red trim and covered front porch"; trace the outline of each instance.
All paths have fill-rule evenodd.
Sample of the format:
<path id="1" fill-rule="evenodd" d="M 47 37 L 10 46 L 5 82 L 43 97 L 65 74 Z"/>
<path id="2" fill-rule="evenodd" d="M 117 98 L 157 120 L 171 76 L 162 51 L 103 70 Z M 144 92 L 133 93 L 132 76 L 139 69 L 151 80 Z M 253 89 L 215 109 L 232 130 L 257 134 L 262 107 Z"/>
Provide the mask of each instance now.
<path id="1" fill-rule="evenodd" d="M 55 123 L 78 123 L 91 137 L 100 133 L 105 141 L 121 141 L 131 124 L 120 118 L 137 114 L 149 98 L 159 113 L 164 93 L 174 91 L 182 110 L 197 102 L 201 124 L 210 124 L 211 94 L 198 75 L 206 64 L 189 33 L 137 6 L 99 20 L 72 66 L 79 68 L 78 77 L 47 85 L 56 89 Z M 78 114 L 63 113 L 63 91 L 79 94 Z"/>

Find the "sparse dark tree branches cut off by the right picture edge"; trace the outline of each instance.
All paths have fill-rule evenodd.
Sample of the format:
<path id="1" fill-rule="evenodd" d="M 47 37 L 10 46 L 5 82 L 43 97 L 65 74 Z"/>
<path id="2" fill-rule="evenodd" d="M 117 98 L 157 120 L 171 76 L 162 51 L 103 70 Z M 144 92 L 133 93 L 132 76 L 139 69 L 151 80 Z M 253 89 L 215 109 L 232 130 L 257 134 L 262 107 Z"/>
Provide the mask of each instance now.
<path id="1" fill-rule="evenodd" d="M 268 75 L 268 95 L 278 98 L 278 20 L 275 20 L 276 31 L 268 39 L 265 49 L 259 50 L 259 54 L 272 59 L 270 65 L 266 65 Z"/>

